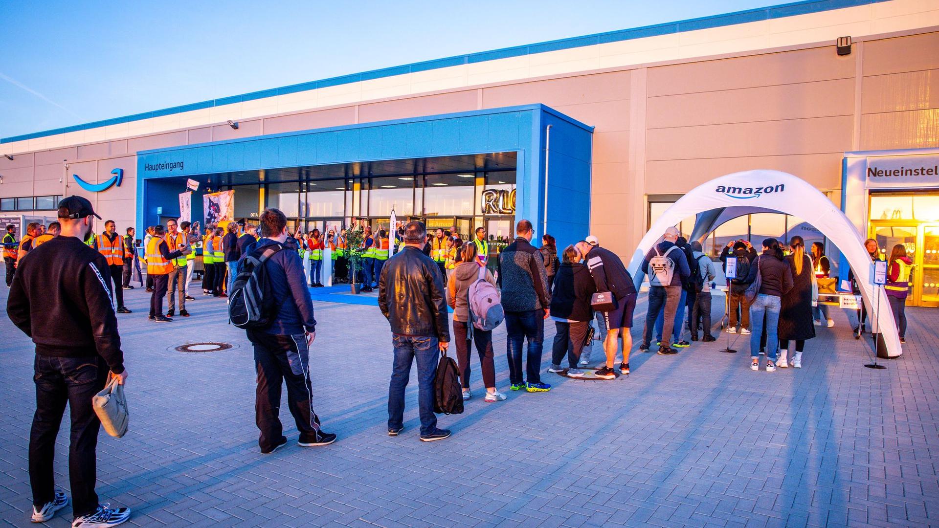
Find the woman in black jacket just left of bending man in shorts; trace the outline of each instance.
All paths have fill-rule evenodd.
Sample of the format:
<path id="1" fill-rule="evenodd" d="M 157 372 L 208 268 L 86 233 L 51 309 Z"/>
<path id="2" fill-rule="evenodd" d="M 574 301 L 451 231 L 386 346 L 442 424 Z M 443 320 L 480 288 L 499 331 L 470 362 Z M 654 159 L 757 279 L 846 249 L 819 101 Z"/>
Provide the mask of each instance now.
<path id="1" fill-rule="evenodd" d="M 554 277 L 551 318 L 557 333 L 551 350 L 551 367 L 547 369 L 548 372 L 563 372 L 561 361 L 566 353 L 567 375 L 574 377 L 583 375 L 577 368 L 577 360 L 587 340 L 593 318 L 590 302 L 596 292 L 590 270 L 579 262 L 580 258 L 580 252 L 573 245 L 564 248 L 564 260 Z"/>

